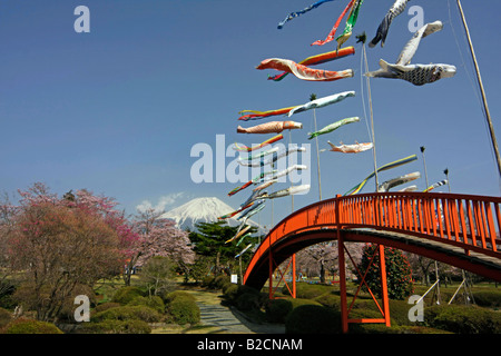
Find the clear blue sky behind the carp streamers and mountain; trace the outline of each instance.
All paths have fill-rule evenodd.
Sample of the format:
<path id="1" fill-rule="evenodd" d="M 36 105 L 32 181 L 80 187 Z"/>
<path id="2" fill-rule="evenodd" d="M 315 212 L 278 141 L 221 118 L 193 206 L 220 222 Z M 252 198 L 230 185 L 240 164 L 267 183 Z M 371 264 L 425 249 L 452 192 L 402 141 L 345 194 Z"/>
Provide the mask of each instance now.
<path id="1" fill-rule="evenodd" d="M 266 78 L 275 71 L 255 69 L 266 58 L 301 61 L 334 49 L 333 43 L 310 43 L 325 38 L 346 1 L 327 2 L 282 30 L 276 28 L 287 13 L 313 2 L 2 1 L 0 189 L 14 194 L 35 181 L 43 181 L 59 194 L 87 188 L 116 198 L 129 214 L 144 201 L 169 209 L 203 196 L 216 196 L 237 207 L 248 192 L 227 197 L 234 184 L 191 181 L 190 168 L 197 160 L 190 157 L 191 147 L 205 142 L 215 148 L 216 135 L 225 135 L 228 146 L 234 141 L 250 144 L 248 136 L 236 134 L 237 125 L 245 126 L 237 121 L 238 111 L 299 105 L 307 102 L 311 93 L 321 98 L 356 91 L 355 98 L 317 109 L 318 127 L 345 117 L 362 118 L 356 125 L 321 136 L 321 148 L 327 148 L 327 139 L 335 144 L 370 140 L 362 100 L 362 47 L 355 43 L 355 34 L 365 31 L 372 39 L 393 0 L 366 0 L 354 36 L 345 43 L 354 46 L 356 53 L 315 67 L 352 68 L 354 78 L 305 82 L 288 76 L 273 82 Z M 497 36 L 501 3 L 462 2 L 499 136 Z M 73 30 L 78 18 L 73 10 L 81 4 L 90 10 L 90 33 Z M 413 63 L 450 63 L 458 67 L 458 73 L 424 87 L 371 80 L 377 165 L 410 155 L 419 157 L 381 174 L 380 182 L 421 171 L 422 178 L 415 184 L 424 189 L 420 147 L 425 146 L 430 184 L 444 179 L 448 168 L 453 192 L 499 196 L 497 164 L 455 1 L 413 0 L 410 6 L 424 9 L 424 22 L 444 23 L 442 31 L 423 39 Z M 381 58 L 395 61 L 412 37 L 407 29 L 411 19 L 402 13 L 393 21 L 385 47 L 367 48 L 371 70 L 379 68 Z M 344 22 L 338 33 L 343 28 Z M 365 86 L 363 90 L 366 93 Z M 292 131 L 293 142 L 314 144 L 306 139 L 313 112 L 293 118 L 304 125 L 303 130 Z M 295 208 L 318 199 L 316 152 L 311 154 L 312 190 L 295 198 Z M 371 151 L 322 152 L 321 168 L 323 198 L 328 198 L 363 180 L 373 170 L 373 156 Z M 363 192 L 373 190 L 371 180 Z M 289 201 L 285 198 L 275 202 L 275 222 L 291 211 Z M 271 224 L 269 207 L 259 219 Z"/>

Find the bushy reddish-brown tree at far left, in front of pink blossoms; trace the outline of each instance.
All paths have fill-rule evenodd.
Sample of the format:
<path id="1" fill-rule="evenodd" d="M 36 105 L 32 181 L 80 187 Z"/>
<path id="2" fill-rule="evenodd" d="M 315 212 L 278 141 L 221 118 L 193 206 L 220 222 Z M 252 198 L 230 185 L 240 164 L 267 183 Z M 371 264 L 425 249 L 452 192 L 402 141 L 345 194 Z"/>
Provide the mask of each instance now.
<path id="1" fill-rule="evenodd" d="M 137 235 L 108 197 L 78 190 L 59 198 L 43 184 L 19 196 L 11 225 L 3 222 L 9 261 L 23 276 L 16 296 L 38 319 L 55 320 L 78 285 L 120 273 Z"/>

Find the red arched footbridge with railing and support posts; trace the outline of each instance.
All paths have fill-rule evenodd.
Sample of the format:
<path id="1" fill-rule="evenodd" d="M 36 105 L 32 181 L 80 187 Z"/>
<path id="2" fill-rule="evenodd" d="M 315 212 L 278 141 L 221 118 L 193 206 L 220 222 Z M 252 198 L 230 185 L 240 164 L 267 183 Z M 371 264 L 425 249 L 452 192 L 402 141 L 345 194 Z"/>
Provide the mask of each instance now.
<path id="1" fill-rule="evenodd" d="M 261 289 L 268 280 L 273 297 L 277 266 L 307 246 L 337 240 L 343 328 L 347 330 L 347 323 L 390 325 L 383 246 L 501 281 L 500 204 L 498 197 L 441 192 L 380 192 L 322 200 L 287 216 L 268 233 L 250 259 L 244 284 Z M 348 319 L 346 241 L 380 245 L 383 306 L 377 306 L 382 319 Z"/>

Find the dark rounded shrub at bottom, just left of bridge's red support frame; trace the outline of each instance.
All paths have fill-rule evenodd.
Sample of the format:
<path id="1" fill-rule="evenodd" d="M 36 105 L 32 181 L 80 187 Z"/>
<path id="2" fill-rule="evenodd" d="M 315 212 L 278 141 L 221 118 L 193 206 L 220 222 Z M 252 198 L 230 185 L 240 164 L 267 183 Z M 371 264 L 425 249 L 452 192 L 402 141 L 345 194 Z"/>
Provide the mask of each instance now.
<path id="1" fill-rule="evenodd" d="M 302 305 L 291 312 L 285 320 L 286 334 L 338 334 L 341 314 L 318 305 Z"/>

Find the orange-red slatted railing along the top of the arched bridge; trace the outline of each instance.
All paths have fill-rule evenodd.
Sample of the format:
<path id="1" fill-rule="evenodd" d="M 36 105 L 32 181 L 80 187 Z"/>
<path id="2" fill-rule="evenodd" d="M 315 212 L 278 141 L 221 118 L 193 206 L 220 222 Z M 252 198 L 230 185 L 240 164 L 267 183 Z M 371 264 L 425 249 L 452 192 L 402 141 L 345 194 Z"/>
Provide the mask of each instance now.
<path id="1" fill-rule="evenodd" d="M 498 197 L 442 192 L 340 196 L 293 212 L 269 231 L 266 244 L 273 245 L 292 233 L 323 226 L 364 227 L 446 239 L 465 250 L 478 250 L 499 257 L 500 205 L 501 198 Z M 259 253 L 259 249 L 256 253 Z"/>

